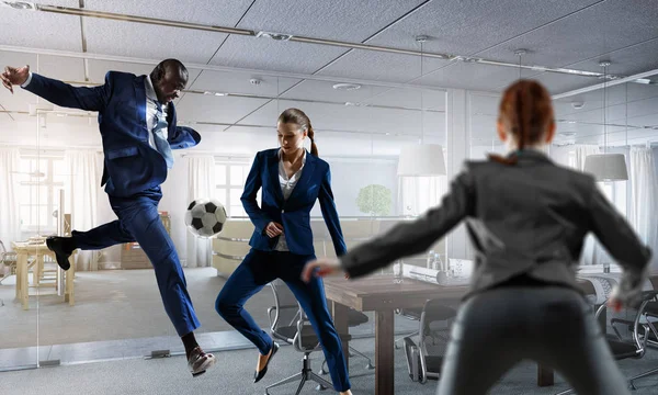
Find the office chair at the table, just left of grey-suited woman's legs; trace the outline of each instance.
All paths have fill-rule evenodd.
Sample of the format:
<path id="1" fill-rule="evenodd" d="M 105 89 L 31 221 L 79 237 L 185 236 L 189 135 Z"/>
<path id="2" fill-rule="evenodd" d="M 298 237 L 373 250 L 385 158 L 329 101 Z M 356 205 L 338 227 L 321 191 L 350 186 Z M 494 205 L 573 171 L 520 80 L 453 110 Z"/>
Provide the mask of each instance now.
<path id="1" fill-rule="evenodd" d="M 411 339 L 413 334 L 402 338 L 411 381 L 424 384 L 428 379 L 441 376 L 450 323 L 457 315 L 456 309 L 444 303 L 444 300 L 439 298 L 426 302 L 420 313 L 418 345 Z"/>

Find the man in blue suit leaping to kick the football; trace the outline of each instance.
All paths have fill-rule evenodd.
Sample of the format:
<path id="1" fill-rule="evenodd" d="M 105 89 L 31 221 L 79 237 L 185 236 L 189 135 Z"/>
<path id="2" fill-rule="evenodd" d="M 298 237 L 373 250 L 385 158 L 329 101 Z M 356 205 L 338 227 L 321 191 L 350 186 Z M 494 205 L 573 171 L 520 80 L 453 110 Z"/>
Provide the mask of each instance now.
<path id="1" fill-rule="evenodd" d="M 13 84 L 66 108 L 99 112 L 104 169 L 101 185 L 118 217 L 71 237 L 52 237 L 47 246 L 64 270 L 77 248 L 102 249 L 116 244 L 139 242 L 151 261 L 164 309 L 181 336 L 193 376 L 203 374 L 215 357 L 198 347 L 194 330 L 198 319 L 188 294 L 185 275 L 169 234 L 158 214 L 160 184 L 173 165 L 172 149 L 193 147 L 198 133 L 175 125 L 173 100 L 188 83 L 188 69 L 177 59 L 161 61 L 150 76 L 109 71 L 105 82 L 77 88 L 30 72 L 30 66 L 7 67 L 2 84 Z"/>

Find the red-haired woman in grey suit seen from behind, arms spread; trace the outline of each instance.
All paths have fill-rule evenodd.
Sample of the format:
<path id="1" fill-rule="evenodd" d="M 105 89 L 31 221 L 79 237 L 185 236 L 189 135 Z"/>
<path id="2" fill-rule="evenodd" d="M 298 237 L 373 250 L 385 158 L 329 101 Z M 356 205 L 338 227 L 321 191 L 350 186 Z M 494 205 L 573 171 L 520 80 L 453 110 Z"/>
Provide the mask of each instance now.
<path id="1" fill-rule="evenodd" d="M 441 395 L 477 395 L 514 364 L 555 368 L 578 392 L 629 394 L 576 282 L 593 232 L 624 268 L 611 304 L 640 296 L 651 251 L 599 191 L 594 179 L 553 163 L 541 148 L 555 134 L 551 97 L 536 81 L 510 86 L 498 135 L 507 157 L 466 162 L 441 206 L 336 259 L 307 263 L 303 279 L 344 271 L 359 278 L 426 251 L 463 219 L 476 250 L 470 291 L 453 325 Z M 477 380 L 474 380 L 477 377 Z"/>

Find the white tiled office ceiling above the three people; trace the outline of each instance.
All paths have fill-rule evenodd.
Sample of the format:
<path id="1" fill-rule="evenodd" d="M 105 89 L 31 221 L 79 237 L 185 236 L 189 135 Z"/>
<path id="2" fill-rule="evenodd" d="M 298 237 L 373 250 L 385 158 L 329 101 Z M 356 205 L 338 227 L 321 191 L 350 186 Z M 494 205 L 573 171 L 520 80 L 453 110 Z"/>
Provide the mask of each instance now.
<path id="1" fill-rule="evenodd" d="M 48 4 L 79 8 L 80 0 L 48 0 Z M 612 60 L 609 72 L 633 75 L 658 68 L 658 5 L 646 0 L 83 0 L 88 10 L 157 18 L 296 36 L 364 43 L 420 50 L 417 35 L 428 35 L 423 52 L 477 56 L 518 63 L 514 49 L 525 48 L 525 65 L 568 67 L 601 71 L 601 59 Z M 234 69 L 190 68 L 189 89 L 239 93 L 214 97 L 185 93 L 178 101 L 179 117 L 206 125 L 214 132 L 256 133 L 274 124 L 281 110 L 299 106 L 318 129 L 345 133 L 420 135 L 441 138 L 445 133 L 445 94 L 440 88 L 500 92 L 514 79 L 536 78 L 552 93 L 589 87 L 600 80 L 483 64 L 467 64 L 418 56 L 348 49 L 297 42 L 189 30 L 182 27 L 61 15 L 0 8 L 0 45 L 95 56 L 162 59 L 224 66 Z M 33 70 L 66 81 L 102 82 L 107 70 L 147 74 L 152 64 L 121 60 L 22 54 L 0 50 L 0 65 L 31 65 Z M 126 59 L 123 59 L 126 60 Z M 239 69 L 249 69 L 243 71 Z M 315 75 L 276 77 L 275 72 Z M 658 76 L 657 76 L 658 77 Z M 259 84 L 250 83 L 258 79 Z M 344 79 L 367 80 L 359 90 L 336 90 Z M 376 82 L 379 81 L 381 83 Z M 368 83 L 370 82 L 370 83 Z M 389 82 L 421 84 L 432 90 L 390 88 Z M 627 92 L 626 92 L 627 88 Z M 439 90 L 438 90 L 439 89 Z M 575 132 L 564 142 L 595 143 L 602 139 L 601 91 L 556 101 L 558 132 Z M 240 95 L 256 95 L 245 98 Z M 281 95 L 281 100 L 268 98 Z M 470 94 L 472 137 L 491 137 L 498 97 Z M 626 99 L 627 97 L 627 99 Z M 0 90 L 0 124 L 18 122 L 36 98 L 22 90 L 12 95 Z M 310 102 L 315 101 L 315 102 Z M 575 110 L 571 102 L 583 102 Z M 368 104 L 349 106 L 345 102 Z M 417 110 L 422 102 L 428 111 Z M 657 86 L 613 87 L 608 92 L 606 121 L 634 126 L 658 126 Z M 2 110 L 0 108 L 0 110 Z M 396 109 L 400 108 L 400 109 Z M 411 110 L 404 110 L 407 108 Z M 54 122 L 84 124 L 84 119 L 60 117 Z M 228 125 L 249 125 L 245 127 Z M 201 126 L 200 126 L 201 127 Z M 608 127 L 609 143 L 658 139 L 658 131 L 621 132 Z M 259 132 L 259 133 L 260 133 Z M 338 132 L 334 132 L 338 133 Z"/>

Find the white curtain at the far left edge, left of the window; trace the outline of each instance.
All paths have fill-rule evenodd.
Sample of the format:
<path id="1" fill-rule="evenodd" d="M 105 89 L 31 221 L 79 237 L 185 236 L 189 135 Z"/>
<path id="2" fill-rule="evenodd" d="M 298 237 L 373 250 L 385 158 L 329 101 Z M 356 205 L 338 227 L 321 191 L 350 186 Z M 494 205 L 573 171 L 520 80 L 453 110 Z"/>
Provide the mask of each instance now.
<path id="1" fill-rule="evenodd" d="M 11 250 L 12 241 L 21 238 L 15 171 L 19 171 L 19 149 L 0 148 L 0 240 L 8 250 Z"/>

